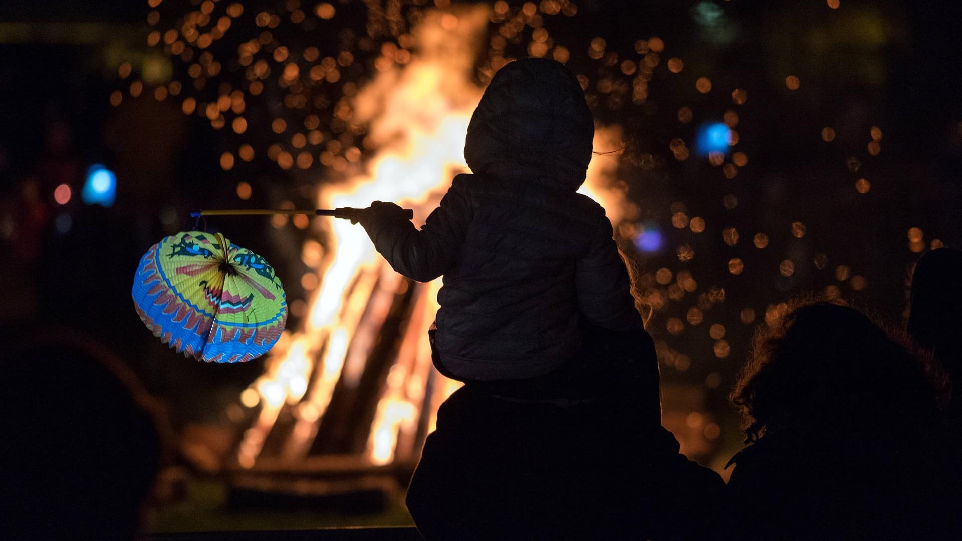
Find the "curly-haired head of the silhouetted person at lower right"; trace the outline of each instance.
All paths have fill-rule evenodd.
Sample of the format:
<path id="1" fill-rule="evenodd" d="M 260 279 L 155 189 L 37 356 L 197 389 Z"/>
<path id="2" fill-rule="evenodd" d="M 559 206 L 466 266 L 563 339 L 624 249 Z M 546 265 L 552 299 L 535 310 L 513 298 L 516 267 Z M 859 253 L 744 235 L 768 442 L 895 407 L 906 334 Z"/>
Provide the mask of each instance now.
<path id="1" fill-rule="evenodd" d="M 858 310 L 815 302 L 759 326 L 732 401 L 747 419 L 748 441 L 776 431 L 831 439 L 880 419 L 934 413 L 927 374 Z"/>

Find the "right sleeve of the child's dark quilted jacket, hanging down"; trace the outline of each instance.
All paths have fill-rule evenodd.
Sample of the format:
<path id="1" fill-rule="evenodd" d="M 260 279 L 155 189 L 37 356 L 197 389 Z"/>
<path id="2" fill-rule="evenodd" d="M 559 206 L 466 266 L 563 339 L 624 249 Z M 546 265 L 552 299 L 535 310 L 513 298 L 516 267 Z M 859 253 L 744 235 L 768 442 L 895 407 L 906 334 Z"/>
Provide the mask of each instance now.
<path id="1" fill-rule="evenodd" d="M 602 216 L 588 252 L 578 260 L 575 289 L 578 307 L 589 322 L 614 330 L 640 329 L 645 324 L 635 308 L 628 270 L 612 238 L 611 221 Z"/>

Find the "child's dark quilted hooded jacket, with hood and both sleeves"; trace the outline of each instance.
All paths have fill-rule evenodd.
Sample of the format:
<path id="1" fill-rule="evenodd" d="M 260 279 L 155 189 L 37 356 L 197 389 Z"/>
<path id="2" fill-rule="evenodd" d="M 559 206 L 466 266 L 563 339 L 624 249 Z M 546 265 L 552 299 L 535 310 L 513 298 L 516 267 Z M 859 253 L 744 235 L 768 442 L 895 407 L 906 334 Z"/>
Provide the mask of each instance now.
<path id="1" fill-rule="evenodd" d="M 454 178 L 420 231 L 376 205 L 362 222 L 394 270 L 418 281 L 443 274 L 434 347 L 444 374 L 547 374 L 577 353 L 588 323 L 644 333 L 611 222 L 576 193 L 594 133 L 562 64 L 507 64 L 471 116 L 474 174 Z"/>

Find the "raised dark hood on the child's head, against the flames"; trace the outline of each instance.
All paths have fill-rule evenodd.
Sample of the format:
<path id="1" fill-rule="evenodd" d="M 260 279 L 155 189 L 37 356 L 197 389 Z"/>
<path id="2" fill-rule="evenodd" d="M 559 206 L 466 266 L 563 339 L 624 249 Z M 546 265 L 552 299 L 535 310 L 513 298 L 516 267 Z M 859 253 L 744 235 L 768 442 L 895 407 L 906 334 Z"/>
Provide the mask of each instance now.
<path id="1" fill-rule="evenodd" d="M 494 74 L 468 125 L 465 159 L 476 174 L 577 190 L 592 159 L 595 121 L 562 64 L 524 59 Z"/>

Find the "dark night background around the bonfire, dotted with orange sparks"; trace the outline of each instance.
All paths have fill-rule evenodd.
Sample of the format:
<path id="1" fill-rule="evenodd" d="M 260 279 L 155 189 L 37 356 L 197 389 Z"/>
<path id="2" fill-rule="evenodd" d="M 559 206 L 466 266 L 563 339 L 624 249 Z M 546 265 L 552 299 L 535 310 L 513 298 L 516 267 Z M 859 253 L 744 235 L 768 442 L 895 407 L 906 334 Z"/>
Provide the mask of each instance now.
<path id="1" fill-rule="evenodd" d="M 589 0 L 573 2 L 577 13 L 571 16 L 543 17 L 551 39 L 570 51 L 570 68 L 587 78 L 598 122 L 624 127 L 618 177 L 638 213 L 620 228 L 620 243 L 639 265 L 646 297 L 654 299 L 648 326 L 662 363 L 665 423 L 694 458 L 716 469 L 741 447 L 727 393 L 751 329 L 765 324 L 767 312 L 813 292 L 842 296 L 900 324 L 912 263 L 933 245 L 962 245 L 962 38 L 956 28 L 962 5 L 841 0 L 832 8 L 833 1 Z M 330 20 L 315 15 L 314 2 L 241 2 L 241 16 L 211 46 L 216 58 L 237 56 L 239 43 L 261 31 L 254 17 L 263 11 L 284 17 L 274 36 L 292 51 L 311 45 L 321 56 L 354 51 L 342 80 L 317 90 L 324 99 L 311 102 L 310 111 L 281 107 L 284 92 L 265 81 L 263 93 L 247 99 L 241 136 L 231 130 L 230 116 L 216 127 L 200 107 L 185 115 L 182 104 L 188 96 L 215 99 L 225 81 L 246 85 L 242 69 L 224 60 L 221 72 L 196 89 L 190 85 L 193 60 L 177 58 L 163 39 L 148 45 L 150 32 L 178 27 L 200 4 L 0 3 L 0 338 L 13 344 L 57 324 L 84 330 L 108 344 L 162 399 L 182 452 L 166 473 L 174 488 L 156 511 L 159 530 L 237 526 L 212 518 L 224 512 L 225 489 L 196 462 L 231 451 L 222 442 L 242 427 L 224 412 L 263 372 L 264 359 L 241 366 L 197 363 L 151 336 L 130 297 L 139 257 L 165 235 L 193 228 L 192 208 L 313 207 L 316 187 L 343 174 L 317 162 L 278 167 L 265 152 L 275 141 L 270 118 L 300 120 L 313 112 L 325 134 L 340 133 L 339 141 L 346 141 L 346 133 L 363 146 L 363 131 L 352 134 L 329 120 L 331 104 L 346 82 L 363 87 L 383 51 L 379 45 L 396 42 L 391 31 L 366 26 L 369 5 L 381 2 L 336 0 Z M 217 13 L 227 4 L 218 2 Z M 403 13 L 429 7 L 423 1 L 396 4 Z M 510 13 L 530 9 L 508 4 Z M 150 14 L 154 10 L 157 15 Z M 306 13 L 304 22 L 289 22 L 298 10 Z M 498 36 L 503 22 L 492 19 L 489 35 Z M 499 57 L 526 56 L 532 31 L 522 25 L 506 32 L 502 50 L 481 47 L 479 84 Z M 636 42 L 647 39 L 646 49 L 654 50 L 649 38 L 655 36 L 664 52 L 646 98 L 633 101 L 636 67 L 628 73 L 621 63 L 644 62 L 648 51 L 640 53 Z M 591 58 L 597 37 L 604 39 L 603 50 Z M 673 73 L 668 64 L 676 57 L 684 67 Z M 799 82 L 795 90 L 787 83 L 791 76 Z M 711 90 L 698 89 L 701 77 Z M 132 84 L 139 81 L 135 97 Z M 169 90 L 173 82 L 179 95 Z M 736 90 L 747 99 L 736 98 Z M 690 121 L 680 119 L 686 107 Z M 696 150 L 698 127 L 722 119 L 738 134 L 723 166 Z M 255 150 L 250 162 L 234 157 L 244 143 Z M 225 152 L 232 153 L 230 167 L 222 161 Z M 729 167 L 734 152 L 747 163 Z M 93 164 L 116 173 L 111 207 L 81 200 Z M 867 193 L 856 190 L 859 179 L 868 181 Z M 241 182 L 251 188 L 249 199 L 239 198 Z M 72 196 L 60 204 L 54 193 L 63 184 Z M 704 220 L 703 232 L 695 231 L 695 218 Z M 793 228 L 795 222 L 802 227 Z M 316 237 L 316 227 L 278 227 L 267 219 L 212 225 L 264 255 L 289 299 L 309 295 L 301 285 L 310 268 L 301 261 L 300 245 Z M 642 231 L 657 232 L 660 246 L 644 251 L 632 243 Z M 753 245 L 757 233 L 767 235 L 766 247 Z M 687 249 L 694 258 L 684 255 Z M 729 263 L 733 258 L 742 263 Z M 696 281 L 691 290 L 680 277 L 685 272 Z M 292 311 L 288 327 L 297 325 Z M 198 454 L 198 447 L 206 451 Z M 246 528 L 409 520 L 396 503 L 380 514 L 248 516 L 254 518 Z"/>

